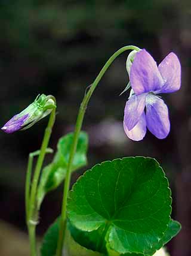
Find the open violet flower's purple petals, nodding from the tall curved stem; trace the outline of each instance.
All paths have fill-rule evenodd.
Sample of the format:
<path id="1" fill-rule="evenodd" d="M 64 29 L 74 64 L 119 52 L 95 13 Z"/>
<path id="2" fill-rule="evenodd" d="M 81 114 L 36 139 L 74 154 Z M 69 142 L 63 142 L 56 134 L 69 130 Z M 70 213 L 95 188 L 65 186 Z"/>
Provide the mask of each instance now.
<path id="1" fill-rule="evenodd" d="M 124 111 L 127 136 L 131 140 L 142 140 L 148 128 L 157 138 L 167 137 L 170 132 L 168 107 L 157 95 L 180 89 L 181 65 L 177 56 L 171 52 L 157 67 L 152 56 L 140 50 L 130 68 L 130 83 L 132 89 Z"/>

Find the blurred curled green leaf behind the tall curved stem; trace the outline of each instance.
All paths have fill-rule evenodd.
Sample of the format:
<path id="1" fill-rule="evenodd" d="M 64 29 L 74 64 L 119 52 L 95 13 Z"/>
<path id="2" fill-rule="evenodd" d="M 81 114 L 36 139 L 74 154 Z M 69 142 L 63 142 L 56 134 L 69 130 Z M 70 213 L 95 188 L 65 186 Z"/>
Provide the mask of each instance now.
<path id="1" fill-rule="evenodd" d="M 56 189 L 66 176 L 70 149 L 73 141 L 73 133 L 64 135 L 58 140 L 57 152 L 53 162 L 42 170 L 41 180 L 38 186 L 38 209 L 47 192 Z M 88 135 L 86 132 L 79 134 L 76 153 L 73 159 L 72 171 L 78 170 L 87 164 Z"/>

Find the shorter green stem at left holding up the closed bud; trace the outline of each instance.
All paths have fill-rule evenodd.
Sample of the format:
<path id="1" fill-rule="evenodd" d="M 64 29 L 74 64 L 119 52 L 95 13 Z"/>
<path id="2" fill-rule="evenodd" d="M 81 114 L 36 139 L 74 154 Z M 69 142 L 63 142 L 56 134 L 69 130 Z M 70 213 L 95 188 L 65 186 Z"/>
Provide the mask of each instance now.
<path id="1" fill-rule="evenodd" d="M 36 167 L 35 167 L 35 171 L 34 171 L 34 176 L 33 176 L 33 180 L 32 180 L 32 187 L 31 187 L 31 192 L 30 192 L 30 200 L 29 200 L 29 181 L 27 180 L 27 192 L 26 192 L 26 207 L 28 207 L 29 209 L 27 209 L 27 227 L 29 230 L 29 240 L 30 240 L 30 248 L 31 248 L 31 256 L 36 256 L 36 237 L 35 237 L 35 231 L 36 231 L 36 225 L 38 223 L 38 210 L 36 209 L 36 189 L 38 187 L 38 180 L 39 180 L 39 176 L 41 174 L 41 168 L 42 168 L 42 164 L 44 161 L 44 157 L 45 157 L 45 153 L 47 150 L 47 146 L 48 146 L 48 142 L 50 140 L 50 135 L 52 132 L 52 128 L 54 125 L 54 121 L 55 121 L 55 113 L 56 113 L 56 109 L 53 109 L 50 115 L 50 119 L 48 121 L 48 125 L 47 128 L 45 129 L 45 134 L 44 134 L 44 138 L 42 141 L 42 146 L 40 149 L 40 153 L 39 153 L 39 157 L 38 157 L 38 161 L 36 163 Z M 30 172 L 28 176 L 30 177 Z M 27 177 L 27 179 L 29 179 L 29 177 Z"/>

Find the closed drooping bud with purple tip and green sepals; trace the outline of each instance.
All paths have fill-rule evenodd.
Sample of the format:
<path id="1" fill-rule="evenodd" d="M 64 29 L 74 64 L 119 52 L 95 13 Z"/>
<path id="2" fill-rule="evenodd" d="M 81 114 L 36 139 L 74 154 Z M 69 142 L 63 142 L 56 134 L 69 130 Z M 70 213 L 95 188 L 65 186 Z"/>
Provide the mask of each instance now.
<path id="1" fill-rule="evenodd" d="M 42 94 L 33 101 L 21 113 L 13 116 L 1 129 L 6 133 L 13 133 L 20 129 L 28 129 L 36 122 L 49 115 L 53 108 L 56 107 L 51 96 Z"/>

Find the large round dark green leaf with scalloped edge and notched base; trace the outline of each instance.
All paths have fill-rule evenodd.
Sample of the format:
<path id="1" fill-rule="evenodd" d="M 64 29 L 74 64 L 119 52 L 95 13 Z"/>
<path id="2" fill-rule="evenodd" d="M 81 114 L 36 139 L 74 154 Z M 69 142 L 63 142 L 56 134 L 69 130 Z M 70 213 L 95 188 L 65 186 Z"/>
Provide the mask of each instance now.
<path id="1" fill-rule="evenodd" d="M 147 254 L 156 247 L 170 213 L 164 171 L 155 159 L 144 157 L 95 165 L 75 183 L 67 206 L 76 228 L 93 231 L 104 225 L 110 248 L 120 254 Z"/>

